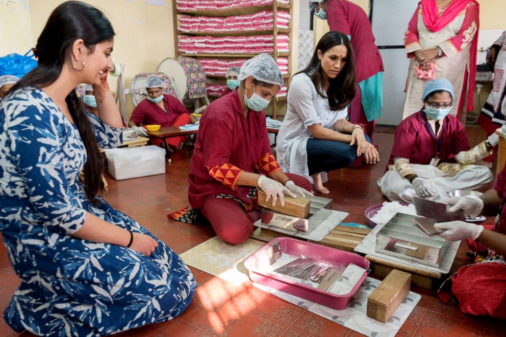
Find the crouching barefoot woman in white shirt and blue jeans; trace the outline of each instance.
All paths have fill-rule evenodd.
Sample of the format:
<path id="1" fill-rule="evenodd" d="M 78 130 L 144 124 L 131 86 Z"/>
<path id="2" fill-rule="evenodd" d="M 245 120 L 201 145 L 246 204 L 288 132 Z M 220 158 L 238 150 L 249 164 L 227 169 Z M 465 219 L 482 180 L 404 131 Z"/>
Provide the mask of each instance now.
<path id="1" fill-rule="evenodd" d="M 312 178 L 318 192 L 330 193 L 323 186 L 326 172 L 346 167 L 361 155 L 366 163 L 380 160 L 363 126 L 346 120 L 356 90 L 350 41 L 343 33 L 328 32 L 309 66 L 290 82 L 276 147 L 283 171 Z"/>

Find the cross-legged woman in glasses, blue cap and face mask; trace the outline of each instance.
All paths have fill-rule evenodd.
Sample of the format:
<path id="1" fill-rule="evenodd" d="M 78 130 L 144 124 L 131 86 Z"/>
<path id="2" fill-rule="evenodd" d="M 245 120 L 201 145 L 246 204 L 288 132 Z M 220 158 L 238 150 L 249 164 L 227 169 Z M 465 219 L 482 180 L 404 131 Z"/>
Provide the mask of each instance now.
<path id="1" fill-rule="evenodd" d="M 449 115 L 454 97 L 449 80 L 427 82 L 423 107 L 397 126 L 387 171 L 378 180 L 388 199 L 442 201 L 449 191 L 477 189 L 492 180 L 487 167 L 473 163 L 492 153 L 499 137 L 492 134 L 471 149 L 464 126 Z"/>

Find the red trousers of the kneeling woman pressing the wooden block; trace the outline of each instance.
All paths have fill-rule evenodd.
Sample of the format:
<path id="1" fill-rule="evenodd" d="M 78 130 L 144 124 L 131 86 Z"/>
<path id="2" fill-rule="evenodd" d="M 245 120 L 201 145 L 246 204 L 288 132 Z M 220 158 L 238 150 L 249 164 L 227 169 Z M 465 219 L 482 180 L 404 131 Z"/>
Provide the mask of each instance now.
<path id="1" fill-rule="evenodd" d="M 311 190 L 312 186 L 308 179 L 291 173 L 286 175 L 297 186 Z M 254 230 L 253 223 L 260 219 L 260 207 L 256 201 L 254 201 L 254 210 L 248 213 L 244 212 L 237 201 L 221 198 L 207 200 L 199 210 L 209 220 L 221 240 L 230 244 L 246 241 Z"/>

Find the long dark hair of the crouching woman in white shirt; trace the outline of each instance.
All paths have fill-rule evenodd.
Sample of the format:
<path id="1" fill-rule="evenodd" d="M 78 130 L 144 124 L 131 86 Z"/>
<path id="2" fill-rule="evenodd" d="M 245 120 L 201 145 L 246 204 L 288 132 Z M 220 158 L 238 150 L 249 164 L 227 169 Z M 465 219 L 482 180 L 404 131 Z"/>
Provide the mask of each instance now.
<path id="1" fill-rule="evenodd" d="M 321 68 L 321 61 L 318 59 L 318 50 L 323 55 L 327 50 L 339 45 L 344 45 L 348 50 L 346 64 L 336 78 L 330 79 L 330 85 L 325 95 L 322 91 L 323 69 Z M 321 97 L 328 99 L 328 105 L 333 111 L 344 109 L 357 93 L 353 49 L 348 37 L 341 32 L 328 32 L 323 35 L 316 45 L 311 62 L 306 69 L 299 71 L 297 74 L 300 73 L 306 73 L 311 77 L 316 92 Z"/>

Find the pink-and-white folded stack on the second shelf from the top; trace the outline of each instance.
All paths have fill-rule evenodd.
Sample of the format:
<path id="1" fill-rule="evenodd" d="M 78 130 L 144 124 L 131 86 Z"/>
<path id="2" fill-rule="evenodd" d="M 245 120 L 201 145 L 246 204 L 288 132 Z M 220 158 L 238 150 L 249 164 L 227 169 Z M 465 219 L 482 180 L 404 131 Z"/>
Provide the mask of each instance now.
<path id="1" fill-rule="evenodd" d="M 274 13 L 262 11 L 255 14 L 208 17 L 208 16 L 182 16 L 179 30 L 190 33 L 233 33 L 252 32 L 274 29 Z M 290 14 L 277 13 L 277 27 L 288 29 Z"/>

